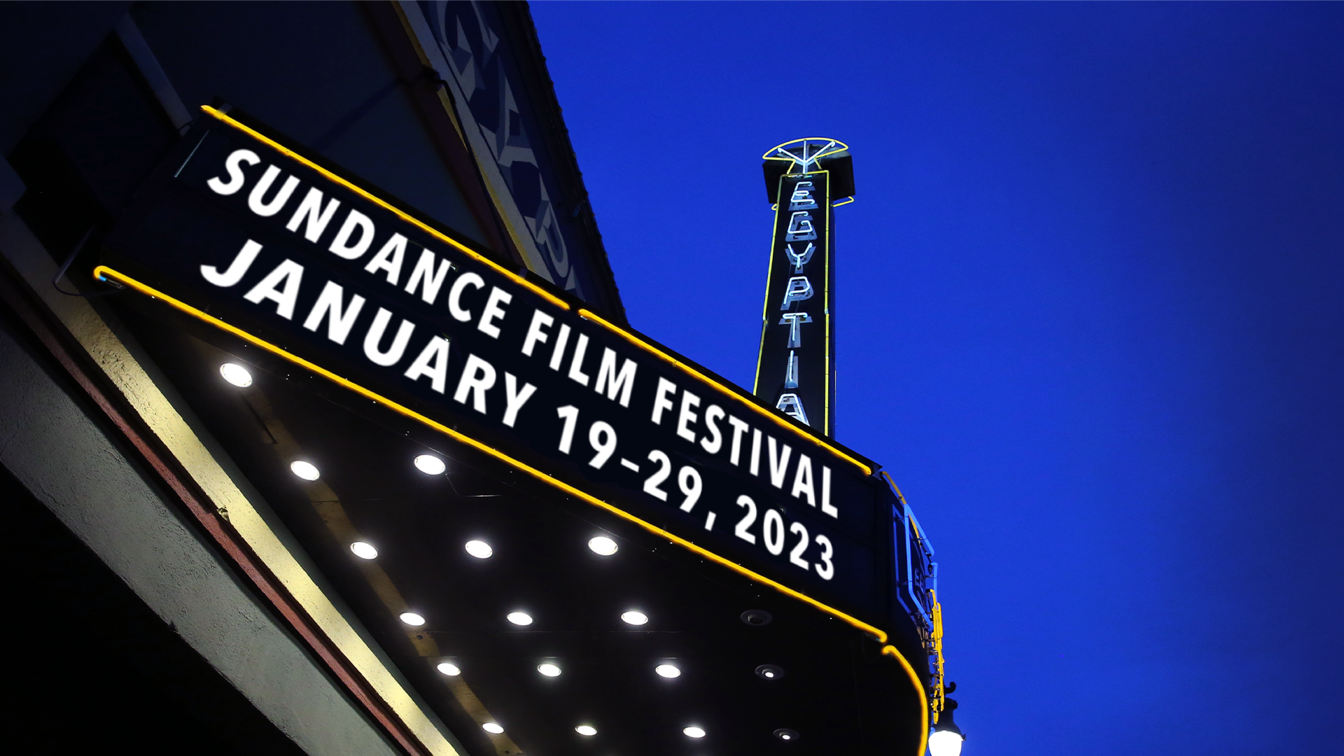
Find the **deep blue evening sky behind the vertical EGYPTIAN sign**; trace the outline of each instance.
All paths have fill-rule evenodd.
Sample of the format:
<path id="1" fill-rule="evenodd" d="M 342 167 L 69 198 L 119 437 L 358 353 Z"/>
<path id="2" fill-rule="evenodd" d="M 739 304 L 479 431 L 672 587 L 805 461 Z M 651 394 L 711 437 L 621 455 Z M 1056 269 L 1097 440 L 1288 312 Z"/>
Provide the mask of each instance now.
<path id="1" fill-rule="evenodd" d="M 1340 752 L 1344 3 L 532 12 L 632 324 L 741 385 L 759 155 L 852 147 L 837 439 L 968 756 Z"/>

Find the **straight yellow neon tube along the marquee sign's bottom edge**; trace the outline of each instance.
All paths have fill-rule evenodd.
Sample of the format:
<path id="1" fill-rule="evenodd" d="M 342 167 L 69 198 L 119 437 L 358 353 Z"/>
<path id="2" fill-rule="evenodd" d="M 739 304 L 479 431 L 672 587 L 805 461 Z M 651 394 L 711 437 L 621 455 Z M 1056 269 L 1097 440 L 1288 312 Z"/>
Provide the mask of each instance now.
<path id="1" fill-rule="evenodd" d="M 852 624 L 853 627 L 856 627 L 856 628 L 859 628 L 859 630 L 862 630 L 862 631 L 864 631 L 867 634 L 871 634 L 872 636 L 875 636 L 878 639 L 879 643 L 886 643 L 887 642 L 887 634 L 884 631 L 878 630 L 876 627 L 872 627 L 871 624 L 868 624 L 868 623 L 866 623 L 866 621 L 863 621 L 863 620 L 860 620 L 857 617 L 852 617 L 852 616 L 841 612 L 840 609 L 836 609 L 833 607 L 823 604 L 821 601 L 817 601 L 816 599 L 813 599 L 813 597 L 810 597 L 810 596 L 808 596 L 805 593 L 800 593 L 798 591 L 794 591 L 793 588 L 789 588 L 788 585 L 784 585 L 781 582 L 775 582 L 774 580 L 770 580 L 769 577 L 766 577 L 763 574 L 753 572 L 753 570 L 750 570 L 750 569 L 747 569 L 747 568 L 745 568 L 745 566 L 742 566 L 742 565 L 739 565 L 737 562 L 732 562 L 732 561 L 730 561 L 730 560 L 727 560 L 724 557 L 720 557 L 719 554 L 715 554 L 714 552 L 710 552 L 708 549 L 706 549 L 703 546 L 698 546 L 694 542 L 687 541 L 685 538 L 681 538 L 680 535 L 675 535 L 672 533 L 668 533 L 667 530 L 663 530 L 661 527 L 659 527 L 659 526 L 656 526 L 656 525 L 653 525 L 650 522 L 645 522 L 645 521 L 634 517 L 633 514 L 630 514 L 630 513 L 628 513 L 625 510 L 617 508 L 617 507 L 614 507 L 614 506 L 603 502 L 602 499 L 598 499 L 597 496 L 593 496 L 591 494 L 587 494 L 585 491 L 581 491 L 581 490 L 575 488 L 574 486 L 570 486 L 569 483 L 564 483 L 563 480 L 556 480 L 555 478 L 552 478 L 552 476 L 542 472 L 540 469 L 536 469 L 535 467 L 531 467 L 531 465 L 528 465 L 526 463 L 521 463 L 521 461 L 519 461 L 519 460 L 516 460 L 516 459 L 513 459 L 513 457 L 511 457 L 511 456 L 508 456 L 508 455 L 505 455 L 503 452 L 499 452 L 499 451 L 496 451 L 496 449 L 493 449 L 491 447 L 487 447 L 485 444 L 477 441 L 476 439 L 472 439 L 470 436 L 464 436 L 462 433 L 458 433 L 457 430 L 453 430 L 452 428 L 449 428 L 449 426 L 446 426 L 446 425 L 444 425 L 441 422 L 435 422 L 434 420 L 430 420 L 430 418 L 425 417 L 423 414 L 421 414 L 421 413 L 418 413 L 418 412 L 415 412 L 415 410 L 413 410 L 413 409 L 410 409 L 407 406 L 399 405 L 399 404 L 394 402 L 392 400 L 388 400 L 387 397 L 384 397 L 382 394 L 374 393 L 374 391 L 371 391 L 371 390 L 360 386 L 359 383 L 355 383 L 352 381 L 341 378 L 340 375 L 336 375 L 335 373 L 332 373 L 331 370 L 327 370 L 325 367 L 321 367 L 319 365 L 308 362 L 306 359 L 304 359 L 304 358 L 301 358 L 301 356 L 298 356 L 296 354 L 290 354 L 290 352 L 285 351 L 284 348 L 277 347 L 276 344 L 273 344 L 273 343 L 270 343 L 270 342 L 267 342 L 265 339 L 259 339 L 257 336 L 253 336 L 247 331 L 243 331 L 242 328 L 238 328 L 237 326 L 231 326 L 228 323 L 224 323 L 223 320 L 220 320 L 220 319 L 218 319 L 218 317 L 215 317 L 212 315 L 207 315 L 206 312 L 202 312 L 200 309 L 196 309 L 195 307 L 192 307 L 192 305 L 190 305 L 190 304 L 187 304 L 184 301 L 173 299 L 173 297 L 171 297 L 171 296 L 160 292 L 159 289 L 156 289 L 153 287 L 142 284 L 142 282 L 132 278 L 130 276 L 126 276 L 125 273 L 113 270 L 112 268 L 108 268 L 106 265 L 99 265 L 99 266 L 97 266 L 97 268 L 93 269 L 93 276 L 94 276 L 94 278 L 98 278 L 98 280 L 113 278 L 113 280 L 116 280 L 116 281 L 118 281 L 121 284 L 125 284 L 125 285 L 136 289 L 137 292 L 140 292 L 142 295 L 148 295 L 148 296 L 152 296 L 152 297 L 156 297 L 156 299 L 161 299 L 165 303 L 171 304 L 172 307 L 175 307 L 175 308 L 185 312 L 187 315 L 191 315 L 192 317 L 196 317 L 199 320 L 210 323 L 211 326 L 214 326 L 216 328 L 220 328 L 223 331 L 228 331 L 230 334 L 233 334 L 233 335 L 235 335 L 235 336 L 238 336 L 241 339 L 245 339 L 245 340 L 247 340 L 247 342 L 250 342 L 253 344 L 257 344 L 258 347 L 261 347 L 261 348 L 263 348 L 263 350 L 266 350 L 266 351 L 269 351 L 271 354 L 276 354 L 276 355 L 282 356 L 282 358 L 285 358 L 285 359 L 288 359 L 288 361 L 290 361 L 290 362 L 293 362 L 296 365 L 306 367 L 308 370 L 312 370 L 313 373 L 317 373 L 319 375 L 323 375 L 324 378 L 328 378 L 328 379 L 331 379 L 331 381 L 333 381 L 336 383 L 340 383 L 341 386 L 345 386 L 347 389 L 349 389 L 349 390 L 352 390 L 352 391 L 355 391 L 355 393 L 358 393 L 358 394 L 360 394 L 363 397 L 367 397 L 367 398 L 370 398 L 370 400 L 372 400 L 372 401 L 375 401 L 378 404 L 386 405 L 386 406 L 388 406 L 388 408 L 399 412 L 401 414 L 405 414 L 406 417 L 410 417 L 411 420 L 417 420 L 417 421 L 419 421 L 419 422 L 422 422 L 422 424 L 433 428 L 434 430 L 438 430 L 438 432 L 444 433 L 445 436 L 449 436 L 449 437 L 452 437 L 452 439 L 454 439 L 457 441 L 461 441 L 462 444 L 466 444 L 466 445 L 469 445 L 469 447 L 472 447 L 474 449 L 478 449 L 478 451 L 485 452 L 485 453 L 488 453 L 488 455 L 491 455 L 491 456 L 493 456 L 493 457 L 496 457 L 499 460 L 503 460 L 503 461 L 505 461 L 505 463 L 508 463 L 508 464 L 511 464 L 511 465 L 513 465 L 513 467 L 516 467 L 516 468 L 527 472 L 528 475 L 536 478 L 538 480 L 543 480 L 546 483 L 550 483 L 551 486 L 555 486 L 556 488 L 564 491 L 566 494 L 570 494 L 573 496 L 578 496 L 579 499 L 583 499 L 585 502 L 587 502 L 587 503 L 590 503 L 590 504 L 593 504 L 595 507 L 603 508 L 603 510 L 606 510 L 606 511 L 609 511 L 609 513 L 612 513 L 612 514 L 614 514 L 614 515 L 617 515 L 617 517 L 620 517 L 622 519 L 633 522 L 634 525 L 637 525 L 637 526 L 648 530 L 649 533 L 655 533 L 657 535 L 661 535 L 661 537 L 667 538 L 668 541 L 672 541 L 673 543 L 676 543 L 679 546 L 684 546 L 684 547 L 689 549 L 691 552 L 695 552 L 696 554 L 699 554 L 699 556 L 702 556 L 702 557 L 704 557 L 704 558 L 707 558 L 707 560 L 710 560 L 712 562 L 720 564 L 720 565 L 723 565 L 723 566 L 726 566 L 726 568 L 728 568 L 728 569 L 731 569 L 734 572 L 738 572 L 738 573 L 741 573 L 741 574 L 743 574 L 743 576 L 746 576 L 746 577 L 749 577 L 749 578 L 751 578 L 751 580 L 754 580 L 757 582 L 763 582 L 765 585 L 769 585 L 769 587 L 774 588 L 775 591 L 778 591 L 778 592 L 781 592 L 781 593 L 784 593 L 786 596 L 792 596 L 792 597 L 794 597 L 794 599 L 797 599 L 800 601 L 804 601 L 806 604 L 812 604 L 813 607 L 821 609 L 823 612 L 827 612 L 831 616 L 841 619 L 841 620 Z M 581 313 L 583 311 L 581 311 Z M 634 340 L 629 335 L 626 335 L 626 338 L 630 338 L 632 340 Z M 636 342 L 636 343 L 638 343 L 638 342 Z M 667 359 L 671 359 L 671 358 L 667 358 Z"/>

